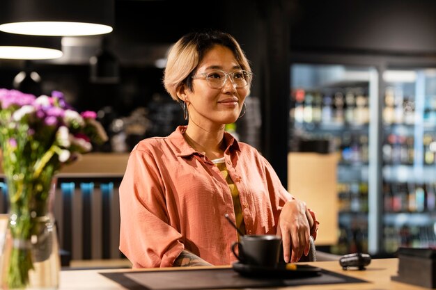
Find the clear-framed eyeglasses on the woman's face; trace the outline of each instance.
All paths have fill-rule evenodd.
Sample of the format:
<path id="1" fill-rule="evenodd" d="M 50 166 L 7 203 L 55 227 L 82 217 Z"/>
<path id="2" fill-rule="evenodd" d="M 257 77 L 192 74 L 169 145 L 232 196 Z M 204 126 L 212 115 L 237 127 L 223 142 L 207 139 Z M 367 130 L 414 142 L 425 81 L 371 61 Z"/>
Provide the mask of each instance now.
<path id="1" fill-rule="evenodd" d="M 231 79 L 235 88 L 243 88 L 251 82 L 252 72 L 246 70 L 238 70 L 238 72 L 224 72 L 222 70 L 214 70 L 212 72 L 203 72 L 192 76 L 192 79 L 205 79 L 208 81 L 210 88 L 222 88 L 227 81 L 227 77 Z"/>

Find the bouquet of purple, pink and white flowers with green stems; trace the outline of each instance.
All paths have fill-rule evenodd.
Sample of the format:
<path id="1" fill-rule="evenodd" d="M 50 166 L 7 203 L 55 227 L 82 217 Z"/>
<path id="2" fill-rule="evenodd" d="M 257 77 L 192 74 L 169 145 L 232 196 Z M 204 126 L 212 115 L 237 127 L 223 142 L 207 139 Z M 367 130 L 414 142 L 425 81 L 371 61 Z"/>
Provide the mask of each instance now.
<path id="1" fill-rule="evenodd" d="M 107 140 L 95 118 L 94 112 L 78 113 L 68 106 L 61 92 L 36 97 L 0 89 L 0 149 L 13 244 L 6 266 L 2 263 L 1 287 L 24 289 L 34 262 L 47 259 L 43 251 L 34 255 L 31 250 L 46 224 L 52 179 L 62 166 L 90 152 L 92 143 Z"/>

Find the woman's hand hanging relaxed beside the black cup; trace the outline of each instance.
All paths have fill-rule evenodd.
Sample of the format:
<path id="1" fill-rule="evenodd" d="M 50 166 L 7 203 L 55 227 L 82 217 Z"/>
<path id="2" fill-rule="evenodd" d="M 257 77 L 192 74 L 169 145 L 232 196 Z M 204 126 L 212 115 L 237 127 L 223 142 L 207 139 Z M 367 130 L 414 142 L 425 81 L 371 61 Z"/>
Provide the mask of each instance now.
<path id="1" fill-rule="evenodd" d="M 313 218 L 300 200 L 286 202 L 279 216 L 277 235 L 283 243 L 283 258 L 286 263 L 298 261 L 302 255 L 308 255 L 310 250 L 310 230 Z M 292 247 L 292 257 L 290 249 Z M 290 259 L 289 259 L 290 258 Z"/>

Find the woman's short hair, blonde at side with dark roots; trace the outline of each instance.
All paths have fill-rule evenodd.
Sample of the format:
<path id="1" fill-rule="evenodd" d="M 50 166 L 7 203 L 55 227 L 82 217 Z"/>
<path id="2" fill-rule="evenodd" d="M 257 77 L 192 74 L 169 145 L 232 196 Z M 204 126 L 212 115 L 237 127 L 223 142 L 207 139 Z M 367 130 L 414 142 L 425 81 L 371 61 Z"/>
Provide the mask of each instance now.
<path id="1" fill-rule="evenodd" d="M 164 70 L 165 89 L 176 102 L 180 102 L 177 96 L 177 90 L 180 86 L 185 84 L 189 90 L 192 90 L 191 76 L 194 75 L 198 63 L 201 63 L 206 52 L 215 45 L 222 45 L 230 49 L 242 70 L 251 72 L 244 51 L 232 35 L 221 31 L 188 33 L 182 36 L 169 50 Z"/>

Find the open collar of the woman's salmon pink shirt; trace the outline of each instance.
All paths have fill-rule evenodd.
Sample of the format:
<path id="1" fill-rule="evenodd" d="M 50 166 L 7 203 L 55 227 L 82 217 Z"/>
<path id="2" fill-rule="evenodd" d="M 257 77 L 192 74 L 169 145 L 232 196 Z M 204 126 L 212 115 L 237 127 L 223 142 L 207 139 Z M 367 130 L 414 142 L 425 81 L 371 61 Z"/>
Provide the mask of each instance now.
<path id="1" fill-rule="evenodd" d="M 190 156 L 192 154 L 200 154 L 199 152 L 194 150 L 194 148 L 189 146 L 189 144 L 183 137 L 186 129 L 187 126 L 178 126 L 176 131 L 173 131 L 173 133 L 168 136 L 173 147 L 173 151 L 176 153 L 177 156 Z M 241 151 L 238 141 L 226 131 L 224 131 L 224 142 L 227 144 L 227 150 L 229 152 Z"/>

